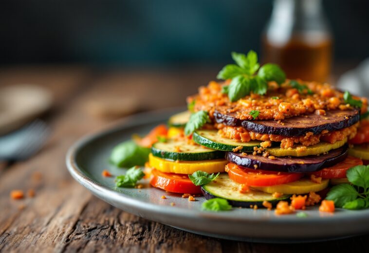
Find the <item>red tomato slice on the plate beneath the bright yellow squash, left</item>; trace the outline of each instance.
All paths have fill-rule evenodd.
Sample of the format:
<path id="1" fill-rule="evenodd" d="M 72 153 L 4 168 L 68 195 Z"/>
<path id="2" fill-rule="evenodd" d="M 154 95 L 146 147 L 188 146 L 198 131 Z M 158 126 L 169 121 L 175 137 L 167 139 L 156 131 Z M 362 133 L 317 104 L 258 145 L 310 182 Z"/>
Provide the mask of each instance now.
<path id="1" fill-rule="evenodd" d="M 201 194 L 201 187 L 194 185 L 186 174 L 164 173 L 152 170 L 150 184 L 171 193 Z"/>

